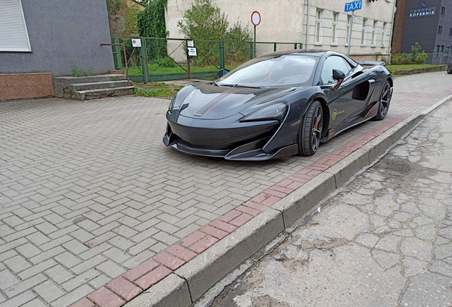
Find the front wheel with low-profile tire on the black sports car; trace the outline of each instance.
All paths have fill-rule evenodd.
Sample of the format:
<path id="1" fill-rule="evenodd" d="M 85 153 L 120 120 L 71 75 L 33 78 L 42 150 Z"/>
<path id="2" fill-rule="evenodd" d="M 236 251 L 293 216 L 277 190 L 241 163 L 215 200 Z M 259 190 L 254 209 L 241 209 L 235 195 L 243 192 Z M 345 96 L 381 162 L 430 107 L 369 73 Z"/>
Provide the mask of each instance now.
<path id="1" fill-rule="evenodd" d="M 316 154 L 322 139 L 323 108 L 317 100 L 308 108 L 298 132 L 298 153 L 301 156 Z"/>

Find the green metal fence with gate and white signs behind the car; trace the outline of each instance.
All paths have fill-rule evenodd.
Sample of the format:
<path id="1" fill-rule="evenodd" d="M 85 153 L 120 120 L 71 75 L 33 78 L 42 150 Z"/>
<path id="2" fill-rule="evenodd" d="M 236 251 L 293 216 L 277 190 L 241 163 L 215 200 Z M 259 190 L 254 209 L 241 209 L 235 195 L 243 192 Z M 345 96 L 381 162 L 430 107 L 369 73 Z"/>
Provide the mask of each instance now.
<path id="1" fill-rule="evenodd" d="M 301 49 L 301 43 L 193 40 L 197 55 L 188 55 L 190 40 L 144 38 L 133 47 L 136 37 L 114 36 L 112 43 L 124 44 L 130 79 L 134 82 L 215 78 L 218 70 L 232 70 L 259 55 L 279 50 Z M 122 45 L 112 46 L 115 68 L 125 70 Z"/>

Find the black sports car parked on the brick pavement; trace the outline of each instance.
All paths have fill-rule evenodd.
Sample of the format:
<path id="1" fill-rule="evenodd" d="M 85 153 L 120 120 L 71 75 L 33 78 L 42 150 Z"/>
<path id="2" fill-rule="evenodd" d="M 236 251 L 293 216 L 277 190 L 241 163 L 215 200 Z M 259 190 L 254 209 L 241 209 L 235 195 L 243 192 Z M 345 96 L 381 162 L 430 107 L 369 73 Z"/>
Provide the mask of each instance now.
<path id="1" fill-rule="evenodd" d="M 163 143 L 227 160 L 312 156 L 345 129 L 384 119 L 393 80 L 381 64 L 317 50 L 259 56 L 178 92 Z"/>

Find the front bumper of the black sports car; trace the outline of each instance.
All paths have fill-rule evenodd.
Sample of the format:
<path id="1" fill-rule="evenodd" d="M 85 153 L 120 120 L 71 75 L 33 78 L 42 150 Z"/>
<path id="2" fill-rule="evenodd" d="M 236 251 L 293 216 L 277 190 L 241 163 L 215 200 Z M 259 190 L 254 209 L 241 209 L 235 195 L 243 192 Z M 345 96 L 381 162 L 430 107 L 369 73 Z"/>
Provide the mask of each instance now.
<path id="1" fill-rule="evenodd" d="M 178 117 L 176 121 L 168 119 L 163 143 L 185 154 L 227 160 L 263 161 L 297 154 L 296 144 L 270 152 L 264 150 L 280 128 L 277 120 L 239 122 L 231 117 L 215 120 Z"/>

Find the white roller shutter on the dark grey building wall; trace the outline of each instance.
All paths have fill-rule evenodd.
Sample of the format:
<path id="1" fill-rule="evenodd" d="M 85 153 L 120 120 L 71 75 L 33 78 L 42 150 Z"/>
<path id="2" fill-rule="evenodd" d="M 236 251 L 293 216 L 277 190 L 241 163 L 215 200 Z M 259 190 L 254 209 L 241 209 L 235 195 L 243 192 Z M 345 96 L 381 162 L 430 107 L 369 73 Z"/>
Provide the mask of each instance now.
<path id="1" fill-rule="evenodd" d="M 0 0 L 0 51 L 31 51 L 21 0 Z"/>

